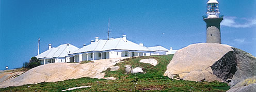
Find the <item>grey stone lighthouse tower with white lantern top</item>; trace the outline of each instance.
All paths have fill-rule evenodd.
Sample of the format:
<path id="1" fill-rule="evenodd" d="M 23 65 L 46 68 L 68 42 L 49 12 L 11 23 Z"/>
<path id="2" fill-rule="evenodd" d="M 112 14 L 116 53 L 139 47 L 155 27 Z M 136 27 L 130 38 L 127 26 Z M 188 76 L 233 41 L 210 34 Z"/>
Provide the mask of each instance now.
<path id="1" fill-rule="evenodd" d="M 219 15 L 219 3 L 217 0 L 207 2 L 207 15 L 203 16 L 206 22 L 206 43 L 220 43 L 220 22 L 223 15 Z"/>

